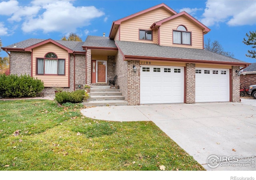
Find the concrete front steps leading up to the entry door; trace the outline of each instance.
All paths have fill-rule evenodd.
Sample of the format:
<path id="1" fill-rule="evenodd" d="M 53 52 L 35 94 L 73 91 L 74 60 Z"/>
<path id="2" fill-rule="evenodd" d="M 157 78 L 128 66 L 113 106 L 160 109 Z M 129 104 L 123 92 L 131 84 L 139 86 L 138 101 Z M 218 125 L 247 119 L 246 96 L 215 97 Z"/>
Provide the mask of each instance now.
<path id="1" fill-rule="evenodd" d="M 110 86 L 91 86 L 89 102 L 83 102 L 84 106 L 126 106 L 122 92 Z"/>

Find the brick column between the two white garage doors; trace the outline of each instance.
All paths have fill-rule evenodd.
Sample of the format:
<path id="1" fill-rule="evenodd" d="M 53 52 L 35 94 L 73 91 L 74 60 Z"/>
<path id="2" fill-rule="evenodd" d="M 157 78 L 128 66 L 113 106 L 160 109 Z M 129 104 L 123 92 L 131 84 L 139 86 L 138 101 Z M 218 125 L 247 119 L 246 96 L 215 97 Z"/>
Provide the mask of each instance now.
<path id="1" fill-rule="evenodd" d="M 196 64 L 186 64 L 186 103 L 196 102 Z"/>

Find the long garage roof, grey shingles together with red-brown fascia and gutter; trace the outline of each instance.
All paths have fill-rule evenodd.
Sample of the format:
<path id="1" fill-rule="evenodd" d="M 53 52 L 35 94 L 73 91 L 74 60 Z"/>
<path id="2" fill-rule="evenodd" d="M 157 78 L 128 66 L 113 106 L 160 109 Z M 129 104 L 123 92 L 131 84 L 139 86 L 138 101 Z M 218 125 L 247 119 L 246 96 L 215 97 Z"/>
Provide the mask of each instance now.
<path id="1" fill-rule="evenodd" d="M 124 60 L 154 59 L 173 62 L 191 62 L 248 66 L 248 62 L 230 58 L 209 50 L 195 48 L 180 48 L 172 46 L 160 46 L 142 42 L 116 41 L 118 50 L 124 56 Z"/>

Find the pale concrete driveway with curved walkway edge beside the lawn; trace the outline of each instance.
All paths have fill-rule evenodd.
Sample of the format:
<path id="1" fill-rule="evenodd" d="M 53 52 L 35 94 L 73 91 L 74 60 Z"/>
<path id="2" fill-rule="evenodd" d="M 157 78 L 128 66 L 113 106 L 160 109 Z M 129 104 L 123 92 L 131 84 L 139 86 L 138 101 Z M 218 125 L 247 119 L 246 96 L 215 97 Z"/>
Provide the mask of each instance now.
<path id="1" fill-rule="evenodd" d="M 236 103 L 104 106 L 81 112 L 99 120 L 151 120 L 206 170 L 256 170 L 256 163 L 252 162 L 256 156 L 254 99 Z M 235 162 L 226 162 L 226 158 Z"/>

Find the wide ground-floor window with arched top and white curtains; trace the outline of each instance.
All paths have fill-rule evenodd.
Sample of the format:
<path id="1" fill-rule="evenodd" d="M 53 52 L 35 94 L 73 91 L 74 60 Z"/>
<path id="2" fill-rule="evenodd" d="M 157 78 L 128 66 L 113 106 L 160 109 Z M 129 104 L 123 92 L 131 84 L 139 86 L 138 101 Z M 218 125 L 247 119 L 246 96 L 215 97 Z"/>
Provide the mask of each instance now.
<path id="1" fill-rule="evenodd" d="M 65 60 L 50 52 L 44 58 L 36 58 L 36 74 L 65 75 Z"/>

